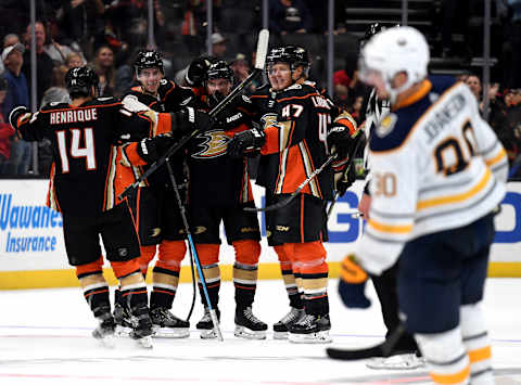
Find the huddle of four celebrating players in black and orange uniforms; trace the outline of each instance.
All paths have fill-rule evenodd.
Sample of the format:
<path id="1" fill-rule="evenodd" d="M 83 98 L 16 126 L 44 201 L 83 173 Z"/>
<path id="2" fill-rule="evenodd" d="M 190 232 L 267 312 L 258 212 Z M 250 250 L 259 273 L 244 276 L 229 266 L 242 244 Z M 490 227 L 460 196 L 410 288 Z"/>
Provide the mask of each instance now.
<path id="1" fill-rule="evenodd" d="M 279 256 L 290 298 L 290 311 L 274 325 L 276 338 L 329 341 L 325 202 L 332 198 L 333 174 L 343 172 L 358 132 L 354 119 L 307 80 L 306 50 L 272 49 L 266 65 L 269 84 L 250 99 L 237 98 L 212 120 L 207 113 L 233 88 L 228 63 L 194 60 L 186 77 L 189 87 L 164 77 L 155 51 L 141 51 L 135 68 L 139 86 L 120 101 L 97 98 L 96 74 L 80 67 L 66 77 L 72 104 L 51 103 L 36 114 L 18 108 L 11 116 L 24 139 L 48 138 L 53 143 L 49 204 L 63 215 L 68 260 L 100 320 L 94 336 L 114 332 L 136 339 L 189 336 L 189 322 L 170 312 L 187 254 L 174 177 L 212 308 L 219 316 L 223 222 L 236 253 L 234 334 L 265 338 L 268 326 L 252 312 L 260 231 L 257 215 L 244 210 L 254 207 L 247 159 L 260 157 L 257 183 L 266 189 L 270 204 L 285 198 L 335 154 L 333 168 L 266 216 L 268 243 Z M 66 118 L 79 115 L 89 118 Z M 138 189 L 120 196 L 167 149 L 194 130 L 199 133 L 169 157 L 170 167 L 158 167 Z M 119 280 L 113 310 L 102 275 L 99 233 Z M 143 277 L 155 256 L 149 301 Z M 212 318 L 201 297 L 205 312 L 196 329 L 203 338 L 212 338 Z"/>

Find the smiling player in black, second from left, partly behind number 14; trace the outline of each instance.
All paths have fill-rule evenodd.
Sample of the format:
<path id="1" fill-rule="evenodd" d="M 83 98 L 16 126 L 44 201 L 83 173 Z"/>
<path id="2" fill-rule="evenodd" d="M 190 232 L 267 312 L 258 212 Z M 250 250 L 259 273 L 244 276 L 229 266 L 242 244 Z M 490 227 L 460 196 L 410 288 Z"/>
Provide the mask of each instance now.
<path id="1" fill-rule="evenodd" d="M 191 89 L 182 88 L 164 78 L 163 60 L 156 51 L 140 51 L 135 61 L 136 76 L 139 86 L 134 87 L 128 95 L 156 112 L 179 111 L 194 99 Z M 128 97 L 127 95 L 127 97 Z M 122 138 L 127 141 L 153 138 L 160 132 L 130 131 Z M 181 195 L 186 195 L 187 178 L 183 171 L 183 152 L 175 154 L 170 159 L 176 181 L 183 187 Z M 145 166 L 144 166 L 145 167 Z M 139 178 L 143 167 L 132 165 L 134 175 Z M 152 273 L 152 293 L 150 295 L 150 315 L 155 336 L 188 337 L 189 322 L 174 316 L 169 310 L 177 292 L 181 260 L 187 247 L 186 233 L 176 195 L 170 185 L 166 166 L 160 167 L 132 194 L 130 207 L 137 220 L 137 229 L 141 244 L 140 269 L 143 275 L 150 261 L 157 252 L 157 261 Z M 124 331 L 126 317 L 124 307 L 118 306 L 116 291 L 115 315 L 118 330 Z"/>

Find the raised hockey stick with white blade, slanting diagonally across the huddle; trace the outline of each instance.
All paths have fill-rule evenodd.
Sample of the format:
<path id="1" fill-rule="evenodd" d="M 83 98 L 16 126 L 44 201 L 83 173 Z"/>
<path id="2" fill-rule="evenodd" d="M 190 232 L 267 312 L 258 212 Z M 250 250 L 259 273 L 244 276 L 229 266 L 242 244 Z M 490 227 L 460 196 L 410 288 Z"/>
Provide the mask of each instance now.
<path id="1" fill-rule="evenodd" d="M 266 63 L 266 55 L 268 53 L 268 42 L 269 42 L 269 31 L 267 29 L 262 29 L 258 33 L 258 41 L 257 41 L 257 52 L 256 52 L 256 60 L 255 60 L 255 67 L 253 68 L 252 73 L 244 79 L 242 82 L 237 86 L 225 99 L 223 99 L 212 111 L 208 113 L 211 118 L 211 125 L 216 123 L 216 117 L 220 114 L 228 105 L 236 100 L 236 98 L 253 81 L 253 79 L 264 72 L 264 65 Z M 160 168 L 167 158 L 171 157 L 179 149 L 183 147 L 190 139 L 194 138 L 199 133 L 201 133 L 201 129 L 195 129 L 190 134 L 183 137 L 179 142 L 174 144 L 169 147 L 163 156 L 161 156 L 157 161 L 155 161 L 150 167 L 144 171 L 141 177 L 138 178 L 132 184 L 127 187 L 125 191 L 118 196 L 119 200 L 128 195 L 128 193 L 138 188 L 139 184 L 150 177 L 157 168 Z"/>

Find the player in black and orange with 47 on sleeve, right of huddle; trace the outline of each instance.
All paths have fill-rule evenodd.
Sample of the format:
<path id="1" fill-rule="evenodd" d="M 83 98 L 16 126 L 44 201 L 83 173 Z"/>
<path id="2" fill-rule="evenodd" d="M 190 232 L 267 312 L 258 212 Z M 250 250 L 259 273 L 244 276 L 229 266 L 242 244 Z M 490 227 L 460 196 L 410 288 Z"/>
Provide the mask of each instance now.
<path id="1" fill-rule="evenodd" d="M 240 156 L 250 149 L 259 149 L 263 155 L 276 154 L 269 158 L 265 184 L 269 189 L 267 195 L 280 202 L 331 154 L 328 136 L 335 108 L 306 80 L 309 61 L 303 48 L 287 46 L 272 50 L 267 66 L 272 85 L 280 88 L 276 115 L 266 121 L 264 130 L 236 134 L 228 152 Z M 341 151 L 339 157 L 343 157 L 351 144 L 343 140 L 347 138 L 347 142 L 352 142 L 352 136 L 356 137 L 356 126 L 332 136 L 336 137 L 334 144 Z M 328 168 L 312 179 L 294 201 L 274 211 L 271 236 L 292 261 L 305 308 L 305 315 L 289 325 L 292 342 L 330 341 L 328 265 L 322 241 L 327 240 L 323 202 L 332 198 L 332 191 L 333 170 Z"/>

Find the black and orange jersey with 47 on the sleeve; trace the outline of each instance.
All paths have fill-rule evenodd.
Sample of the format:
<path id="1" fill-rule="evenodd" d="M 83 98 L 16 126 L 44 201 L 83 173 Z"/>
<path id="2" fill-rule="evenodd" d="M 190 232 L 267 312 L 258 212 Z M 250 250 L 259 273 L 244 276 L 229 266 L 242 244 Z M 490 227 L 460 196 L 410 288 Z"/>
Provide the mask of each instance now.
<path id="1" fill-rule="evenodd" d="M 332 105 L 313 82 L 294 84 L 277 93 L 276 119 L 265 126 L 266 143 L 260 154 L 277 154 L 270 163 L 267 188 L 272 194 L 294 192 L 329 156 L 327 134 Z M 303 190 L 322 200 L 332 198 L 333 175 L 325 169 Z"/>

